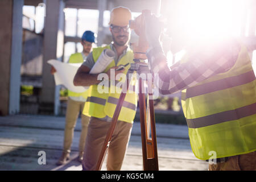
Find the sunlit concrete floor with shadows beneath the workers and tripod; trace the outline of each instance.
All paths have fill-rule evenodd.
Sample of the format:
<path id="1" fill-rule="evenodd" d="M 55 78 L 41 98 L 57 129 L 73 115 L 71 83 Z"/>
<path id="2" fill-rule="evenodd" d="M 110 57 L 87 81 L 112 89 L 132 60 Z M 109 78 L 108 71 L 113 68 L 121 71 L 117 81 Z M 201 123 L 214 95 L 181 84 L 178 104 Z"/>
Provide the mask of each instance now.
<path id="1" fill-rule="evenodd" d="M 13 115 L 0 117 L 0 170 L 81 170 L 77 162 L 80 119 L 75 129 L 71 160 L 64 166 L 55 163 L 61 155 L 64 117 Z M 208 163 L 191 151 L 187 126 L 156 124 L 159 170 L 207 170 Z M 39 151 L 46 152 L 46 165 L 38 164 Z M 102 165 L 106 170 L 106 164 Z M 133 131 L 122 170 L 142 170 L 140 123 Z"/>

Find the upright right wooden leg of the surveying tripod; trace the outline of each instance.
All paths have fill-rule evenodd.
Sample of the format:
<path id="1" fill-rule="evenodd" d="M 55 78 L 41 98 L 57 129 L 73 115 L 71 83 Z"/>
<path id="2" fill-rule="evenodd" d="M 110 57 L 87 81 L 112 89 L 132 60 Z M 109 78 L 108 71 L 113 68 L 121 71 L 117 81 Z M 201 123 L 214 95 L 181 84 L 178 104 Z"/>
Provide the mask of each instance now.
<path id="1" fill-rule="evenodd" d="M 151 100 L 150 104 L 150 122 L 151 122 L 151 136 L 152 139 L 147 136 L 146 127 L 146 101 L 144 92 L 144 84 L 142 78 L 139 78 L 139 112 L 141 117 L 141 140 L 142 140 L 142 155 L 143 155 L 143 169 L 145 171 L 158 170 L 158 152 L 156 146 L 156 134 L 155 134 L 155 115 L 154 115 L 154 103 Z"/>

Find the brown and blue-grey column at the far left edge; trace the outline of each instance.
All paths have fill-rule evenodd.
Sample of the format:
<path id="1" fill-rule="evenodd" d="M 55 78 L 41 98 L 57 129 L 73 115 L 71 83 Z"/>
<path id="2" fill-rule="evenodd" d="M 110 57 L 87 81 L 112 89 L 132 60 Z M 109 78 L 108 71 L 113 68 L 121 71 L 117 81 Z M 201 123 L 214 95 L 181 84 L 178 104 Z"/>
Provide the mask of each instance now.
<path id="1" fill-rule="evenodd" d="M 0 1 L 0 115 L 19 112 L 23 0 Z"/>

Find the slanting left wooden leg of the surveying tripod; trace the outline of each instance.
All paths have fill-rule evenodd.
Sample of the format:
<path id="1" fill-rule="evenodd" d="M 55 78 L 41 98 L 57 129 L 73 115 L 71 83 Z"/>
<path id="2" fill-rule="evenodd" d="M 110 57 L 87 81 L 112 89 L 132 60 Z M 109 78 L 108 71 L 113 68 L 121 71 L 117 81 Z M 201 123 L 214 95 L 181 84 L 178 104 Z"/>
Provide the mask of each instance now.
<path id="1" fill-rule="evenodd" d="M 129 88 L 129 82 L 126 81 L 126 84 L 127 84 L 127 88 L 126 88 L 126 92 L 127 92 L 127 89 Z M 97 165 L 96 165 L 96 171 L 100 171 L 100 169 L 101 169 L 103 159 L 106 155 L 106 150 L 109 147 L 109 144 L 110 144 L 110 141 L 112 139 L 112 135 L 113 135 L 113 132 L 114 132 L 114 129 L 115 129 L 115 125 L 117 124 L 117 120 L 118 120 L 120 111 L 122 109 L 123 101 L 125 100 L 126 92 L 122 92 L 120 94 L 119 100 L 117 102 L 117 107 L 115 107 L 115 112 L 114 112 L 114 115 L 113 115 L 113 118 L 112 118 L 112 122 L 111 122 L 111 125 L 109 127 L 108 134 L 106 135 L 105 142 L 102 146 L 100 156 L 98 158 L 98 162 L 97 162 Z"/>

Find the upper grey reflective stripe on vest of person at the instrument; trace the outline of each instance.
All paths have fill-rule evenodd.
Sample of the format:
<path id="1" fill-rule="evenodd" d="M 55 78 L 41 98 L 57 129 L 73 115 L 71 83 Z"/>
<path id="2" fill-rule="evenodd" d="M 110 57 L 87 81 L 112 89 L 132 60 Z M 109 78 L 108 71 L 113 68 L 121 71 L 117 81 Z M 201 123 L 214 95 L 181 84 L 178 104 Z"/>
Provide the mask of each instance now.
<path id="1" fill-rule="evenodd" d="M 192 88 L 187 89 L 185 98 L 200 96 L 210 92 L 232 88 L 234 86 L 247 84 L 253 80 L 255 80 L 253 71 L 246 72 L 238 76 L 223 78 L 221 80 L 208 82 L 206 84 L 193 86 Z M 181 98 L 182 100 L 185 100 L 184 96 L 182 97 L 182 95 Z"/>

